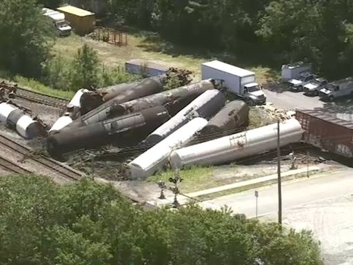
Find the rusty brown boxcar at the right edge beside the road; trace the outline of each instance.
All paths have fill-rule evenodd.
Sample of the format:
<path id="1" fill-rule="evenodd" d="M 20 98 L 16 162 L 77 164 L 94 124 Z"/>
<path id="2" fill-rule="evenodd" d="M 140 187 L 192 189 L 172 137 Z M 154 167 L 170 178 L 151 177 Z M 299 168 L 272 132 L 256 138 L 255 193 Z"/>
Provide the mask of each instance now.
<path id="1" fill-rule="evenodd" d="M 297 110 L 296 119 L 305 130 L 303 141 L 323 150 L 353 157 L 353 124 L 330 112 Z"/>

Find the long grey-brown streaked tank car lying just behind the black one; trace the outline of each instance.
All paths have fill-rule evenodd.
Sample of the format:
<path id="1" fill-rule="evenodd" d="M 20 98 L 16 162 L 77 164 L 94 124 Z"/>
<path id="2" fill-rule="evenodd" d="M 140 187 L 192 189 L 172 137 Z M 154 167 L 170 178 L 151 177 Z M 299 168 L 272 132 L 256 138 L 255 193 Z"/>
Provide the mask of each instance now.
<path id="1" fill-rule="evenodd" d="M 86 113 L 80 119 L 77 119 L 70 124 L 68 128 L 77 128 L 88 124 L 94 124 L 110 117 L 138 112 L 145 108 L 152 108 L 155 106 L 165 106 L 168 112 L 170 112 L 170 115 L 174 115 L 181 110 L 181 108 L 188 105 L 193 99 L 210 89 L 214 89 L 214 82 L 212 80 L 203 80 L 196 84 L 159 92 L 154 95 L 141 97 L 121 104 L 112 99 Z"/>

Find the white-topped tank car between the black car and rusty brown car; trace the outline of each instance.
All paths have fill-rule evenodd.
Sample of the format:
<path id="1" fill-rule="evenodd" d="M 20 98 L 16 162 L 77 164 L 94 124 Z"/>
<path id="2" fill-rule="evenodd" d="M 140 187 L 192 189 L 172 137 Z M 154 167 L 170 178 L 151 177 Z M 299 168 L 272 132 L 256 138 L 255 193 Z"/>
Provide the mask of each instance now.
<path id="1" fill-rule="evenodd" d="M 177 115 L 165 122 L 162 126 L 154 130 L 147 138 L 148 144 L 157 144 L 159 141 L 173 133 L 175 130 L 186 124 L 196 116 L 208 118 L 221 110 L 225 104 L 223 92 L 212 89 L 203 92 L 196 97 L 188 106 L 180 110 Z"/>

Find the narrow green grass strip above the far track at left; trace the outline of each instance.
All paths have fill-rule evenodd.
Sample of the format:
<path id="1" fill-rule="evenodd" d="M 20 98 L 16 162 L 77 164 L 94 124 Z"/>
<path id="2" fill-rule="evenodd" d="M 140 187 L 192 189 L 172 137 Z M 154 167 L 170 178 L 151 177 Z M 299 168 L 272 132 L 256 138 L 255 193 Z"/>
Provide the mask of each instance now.
<path id="1" fill-rule="evenodd" d="M 19 84 L 20 87 L 26 88 L 28 90 L 33 90 L 35 92 L 40 92 L 48 96 L 61 97 L 63 99 L 72 99 L 75 93 L 74 91 L 64 91 L 50 88 L 49 86 L 41 84 L 41 82 L 32 78 L 21 77 L 20 75 L 15 75 L 11 77 L 10 75 L 6 74 L 6 72 L 0 72 L 0 77 L 15 82 Z"/>

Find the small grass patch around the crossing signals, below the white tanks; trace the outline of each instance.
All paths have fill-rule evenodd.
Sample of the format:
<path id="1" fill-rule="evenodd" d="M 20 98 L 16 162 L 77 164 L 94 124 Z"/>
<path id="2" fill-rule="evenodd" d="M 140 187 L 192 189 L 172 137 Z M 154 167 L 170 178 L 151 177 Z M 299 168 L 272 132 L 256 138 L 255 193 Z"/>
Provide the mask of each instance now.
<path id="1" fill-rule="evenodd" d="M 168 179 L 173 177 L 174 170 L 166 170 L 159 174 L 153 175 L 147 179 L 148 182 L 157 182 L 159 180 L 168 183 Z M 179 189 L 182 193 L 191 193 L 195 190 L 203 190 L 209 188 L 212 183 L 213 168 L 212 167 L 197 167 L 180 170 L 180 176 L 183 181 L 179 184 Z"/>

